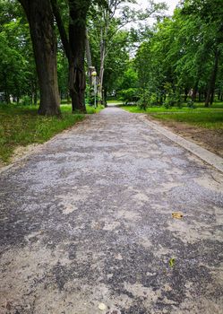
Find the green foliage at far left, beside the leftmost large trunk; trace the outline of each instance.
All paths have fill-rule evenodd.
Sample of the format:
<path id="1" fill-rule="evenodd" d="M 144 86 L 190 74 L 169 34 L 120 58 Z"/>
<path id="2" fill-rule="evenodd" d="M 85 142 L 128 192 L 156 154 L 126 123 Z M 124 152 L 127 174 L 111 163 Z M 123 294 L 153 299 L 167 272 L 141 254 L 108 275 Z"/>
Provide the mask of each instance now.
<path id="1" fill-rule="evenodd" d="M 19 100 L 37 90 L 28 23 L 15 1 L 0 1 L 0 92 Z M 35 91 L 36 92 L 36 91 Z"/>

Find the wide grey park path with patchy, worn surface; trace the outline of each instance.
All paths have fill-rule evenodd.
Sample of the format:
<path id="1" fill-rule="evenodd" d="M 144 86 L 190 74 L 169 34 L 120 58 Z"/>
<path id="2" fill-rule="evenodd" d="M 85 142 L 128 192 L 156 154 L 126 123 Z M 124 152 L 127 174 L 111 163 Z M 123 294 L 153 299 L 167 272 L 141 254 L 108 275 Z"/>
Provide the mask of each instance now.
<path id="1" fill-rule="evenodd" d="M 222 182 L 121 109 L 57 135 L 1 174 L 0 313 L 222 314 Z"/>

